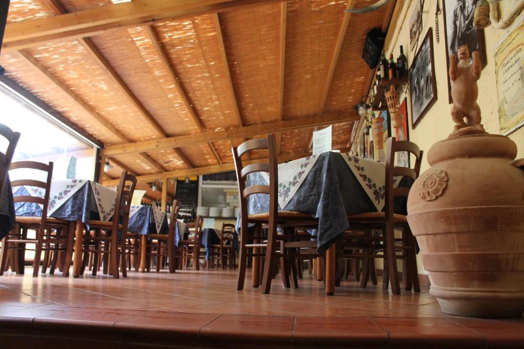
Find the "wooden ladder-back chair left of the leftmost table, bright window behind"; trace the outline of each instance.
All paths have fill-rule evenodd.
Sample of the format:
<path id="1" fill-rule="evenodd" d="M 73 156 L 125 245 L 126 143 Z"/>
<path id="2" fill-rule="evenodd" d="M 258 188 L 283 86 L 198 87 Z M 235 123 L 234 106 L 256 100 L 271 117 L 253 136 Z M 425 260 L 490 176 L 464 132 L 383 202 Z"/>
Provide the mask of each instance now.
<path id="1" fill-rule="evenodd" d="M 38 276 L 38 269 L 40 268 L 40 260 L 42 251 L 46 252 L 42 273 L 45 273 L 49 261 L 49 251 L 60 252 L 64 251 L 66 253 L 64 263 L 71 263 L 71 257 L 73 253 L 73 240 L 74 240 L 74 231 L 72 223 L 64 221 L 57 218 L 47 217 L 47 210 L 49 205 L 49 189 L 51 187 L 51 177 L 53 173 L 53 163 L 42 164 L 40 162 L 34 161 L 18 161 L 14 162 L 9 166 L 9 171 L 18 170 L 39 170 L 46 173 L 46 182 L 37 181 L 35 179 L 17 179 L 12 181 L 12 187 L 18 186 L 32 186 L 37 187 L 43 190 L 43 198 L 35 195 L 22 195 L 15 196 L 15 204 L 18 202 L 21 203 L 34 203 L 42 205 L 41 215 L 38 217 L 25 217 L 17 216 L 16 217 L 16 228 L 10 234 L 7 235 L 2 241 L 2 251 L 0 252 L 0 275 L 3 275 L 3 272 L 6 267 L 7 262 L 7 252 L 8 250 L 13 250 L 18 252 L 18 260 L 15 263 L 18 263 L 19 270 L 23 273 L 23 263 L 24 263 L 24 254 L 26 251 L 26 244 L 35 244 L 35 259 L 33 265 L 33 276 Z M 36 230 L 36 239 L 28 239 L 27 231 Z M 62 234 L 62 230 L 67 231 L 67 233 Z M 65 264 L 64 264 L 65 265 Z M 66 275 L 64 275 L 66 276 Z"/>

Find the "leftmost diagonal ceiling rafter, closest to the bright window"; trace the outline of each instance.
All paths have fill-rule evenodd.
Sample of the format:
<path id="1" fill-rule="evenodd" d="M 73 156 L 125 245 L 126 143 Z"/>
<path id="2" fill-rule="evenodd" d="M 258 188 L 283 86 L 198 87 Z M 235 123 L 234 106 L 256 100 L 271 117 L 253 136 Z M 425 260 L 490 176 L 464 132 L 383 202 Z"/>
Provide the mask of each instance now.
<path id="1" fill-rule="evenodd" d="M 36 58 L 32 57 L 32 55 L 27 52 L 26 50 L 20 50 L 18 51 L 20 55 L 26 59 L 30 64 L 36 67 L 42 74 L 46 75 L 46 77 L 51 80 L 55 85 L 57 85 L 63 92 L 68 94 L 85 112 L 87 112 L 89 115 L 91 115 L 96 121 L 100 122 L 100 124 L 105 127 L 108 131 L 113 133 L 116 137 L 118 137 L 121 141 L 128 143 L 129 139 L 124 136 L 124 134 L 116 129 L 109 121 L 104 119 L 98 112 L 93 109 L 89 104 L 85 103 L 82 98 L 80 98 L 74 91 L 69 88 L 67 85 L 65 85 L 63 82 L 61 82 L 56 76 L 51 74 L 49 70 L 45 66 L 42 65 Z M 156 163 L 155 160 L 151 159 L 151 157 L 147 154 L 140 154 L 140 156 L 149 164 L 151 164 L 154 168 L 156 168 L 158 171 L 164 171 L 164 168 Z"/>

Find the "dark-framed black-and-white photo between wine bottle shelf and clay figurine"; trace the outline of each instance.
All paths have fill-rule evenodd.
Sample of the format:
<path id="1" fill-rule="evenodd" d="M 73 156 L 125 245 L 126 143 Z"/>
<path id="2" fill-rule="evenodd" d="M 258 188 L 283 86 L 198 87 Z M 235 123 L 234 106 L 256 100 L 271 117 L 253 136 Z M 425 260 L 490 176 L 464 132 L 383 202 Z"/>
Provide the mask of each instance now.
<path id="1" fill-rule="evenodd" d="M 414 129 L 436 101 L 433 30 L 429 28 L 409 68 L 411 128 Z"/>

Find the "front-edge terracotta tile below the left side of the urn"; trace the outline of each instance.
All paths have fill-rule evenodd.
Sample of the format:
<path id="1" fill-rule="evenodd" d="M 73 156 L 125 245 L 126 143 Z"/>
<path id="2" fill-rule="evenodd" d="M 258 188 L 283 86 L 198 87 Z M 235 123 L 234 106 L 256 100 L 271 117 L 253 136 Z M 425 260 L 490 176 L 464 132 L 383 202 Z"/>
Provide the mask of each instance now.
<path id="1" fill-rule="evenodd" d="M 484 337 L 450 319 L 373 318 L 389 336 L 389 343 L 412 346 L 438 343 L 442 347 L 483 347 Z"/>

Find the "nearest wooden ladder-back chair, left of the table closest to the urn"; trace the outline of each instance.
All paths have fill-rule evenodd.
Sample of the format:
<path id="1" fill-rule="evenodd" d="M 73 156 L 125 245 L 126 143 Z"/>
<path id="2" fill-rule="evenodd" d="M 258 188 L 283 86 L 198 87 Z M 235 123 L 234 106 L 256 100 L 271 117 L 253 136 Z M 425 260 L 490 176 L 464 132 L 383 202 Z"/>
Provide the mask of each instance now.
<path id="1" fill-rule="evenodd" d="M 253 150 L 267 150 L 269 162 L 256 163 L 244 166 L 242 155 Z M 288 248 L 288 237 L 294 236 L 294 227 L 318 227 L 318 220 L 312 218 L 307 213 L 278 211 L 278 170 L 277 170 L 277 152 L 274 134 L 268 134 L 267 139 L 248 140 L 237 148 L 232 148 L 233 160 L 238 181 L 238 192 L 241 201 L 241 243 L 240 243 L 240 262 L 238 268 L 237 290 L 244 288 L 244 279 L 246 274 L 247 257 L 253 258 L 253 286 L 258 287 L 259 279 L 256 275 L 259 257 L 264 256 L 264 273 L 263 273 L 263 292 L 269 293 L 271 289 L 271 279 L 275 275 L 275 265 L 278 265 L 280 258 L 280 268 L 282 282 L 285 287 L 289 286 L 289 263 L 287 261 L 286 249 Z M 269 173 L 269 185 L 253 185 L 246 187 L 246 179 L 250 173 L 267 172 Z M 253 194 L 269 195 L 269 211 L 263 213 L 249 214 L 247 211 L 247 198 Z M 254 237 L 248 234 L 248 224 L 255 223 L 259 227 L 261 224 L 268 224 L 267 243 L 263 242 L 260 235 L 255 233 Z M 281 227 L 283 232 L 277 238 L 277 226 Z M 257 229 L 259 232 L 260 229 Z M 277 251 L 277 239 L 280 250 Z M 316 241 L 293 241 L 289 242 L 291 249 L 314 248 Z M 248 252 L 252 249 L 253 252 Z M 266 253 L 260 253 L 265 249 Z M 316 257 L 318 254 L 312 254 L 308 258 Z"/>

